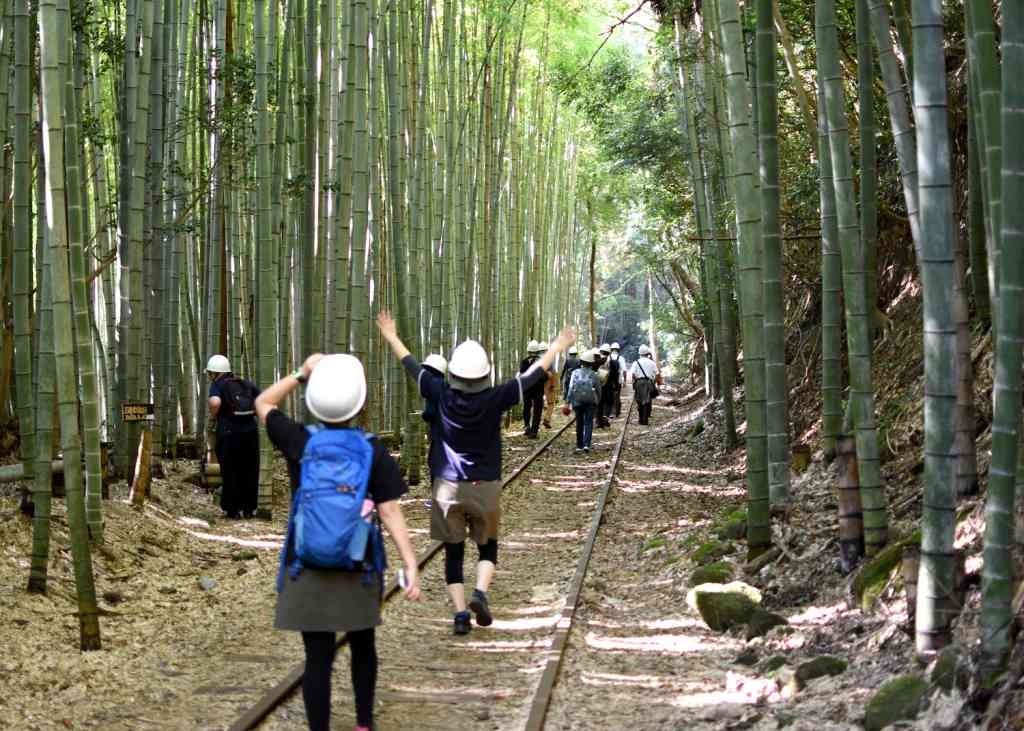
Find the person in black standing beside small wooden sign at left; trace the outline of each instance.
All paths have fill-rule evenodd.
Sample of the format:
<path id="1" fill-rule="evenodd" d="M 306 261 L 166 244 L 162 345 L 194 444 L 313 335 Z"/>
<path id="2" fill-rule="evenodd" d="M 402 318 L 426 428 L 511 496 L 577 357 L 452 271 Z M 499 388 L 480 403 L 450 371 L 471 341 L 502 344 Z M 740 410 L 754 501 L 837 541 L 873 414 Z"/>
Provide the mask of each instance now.
<path id="1" fill-rule="evenodd" d="M 259 432 L 254 411 L 259 388 L 231 373 L 224 355 L 211 356 L 206 374 L 210 379 L 207 407 L 220 463 L 220 509 L 232 520 L 251 518 L 259 496 Z"/>

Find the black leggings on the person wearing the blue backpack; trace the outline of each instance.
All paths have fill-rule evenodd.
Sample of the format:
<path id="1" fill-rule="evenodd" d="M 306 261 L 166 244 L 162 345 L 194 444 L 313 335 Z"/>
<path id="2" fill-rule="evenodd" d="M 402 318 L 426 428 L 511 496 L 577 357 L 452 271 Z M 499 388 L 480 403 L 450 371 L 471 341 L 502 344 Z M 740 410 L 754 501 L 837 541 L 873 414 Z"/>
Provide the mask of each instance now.
<path id="1" fill-rule="evenodd" d="M 349 632 L 352 655 L 352 690 L 355 693 L 355 721 L 373 726 L 374 689 L 377 687 L 377 645 L 374 629 Z M 310 731 L 331 728 L 331 671 L 337 642 L 333 632 L 303 632 L 306 670 L 302 676 L 302 701 Z"/>

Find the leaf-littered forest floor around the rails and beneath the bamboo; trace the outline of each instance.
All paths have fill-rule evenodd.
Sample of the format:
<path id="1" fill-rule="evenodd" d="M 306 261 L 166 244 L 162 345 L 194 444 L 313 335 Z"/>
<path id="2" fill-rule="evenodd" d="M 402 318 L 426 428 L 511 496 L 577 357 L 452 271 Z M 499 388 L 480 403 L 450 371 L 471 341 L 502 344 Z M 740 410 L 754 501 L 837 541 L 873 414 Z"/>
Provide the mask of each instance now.
<path id="1" fill-rule="evenodd" d="M 903 316 L 920 315 L 909 309 Z M 881 369 L 879 388 L 888 396 L 880 399 L 880 421 L 896 538 L 909 533 L 920 515 L 920 434 L 912 427 L 920 416 L 920 343 L 897 330 L 880 351 L 890 357 Z M 987 372 L 986 362 L 978 365 Z M 988 386 L 983 375 L 978 381 L 984 404 Z M 556 419 L 557 428 L 564 422 Z M 982 413 L 982 472 L 986 419 Z M 423 576 L 423 602 L 385 608 L 378 636 L 380 729 L 521 728 L 622 425 L 617 420 L 597 432 L 598 449 L 588 458 L 572 454 L 569 428 L 507 490 L 493 627 L 474 628 L 465 638 L 451 635 L 436 562 Z M 505 439 L 506 468 L 538 443 L 514 425 Z M 773 528 L 780 549 L 774 563 L 748 573 L 742 543 L 721 542 L 720 560 L 758 588 L 763 606 L 788 625 L 753 640 L 742 631 L 708 629 L 686 601 L 694 553 L 717 539 L 744 499 L 742 449 L 728 451 L 723 443 L 720 404 L 698 392 L 659 399 L 648 428 L 634 418 L 549 728 L 860 728 L 877 688 L 923 670 L 913 660 L 898 570 L 869 611 L 851 607 L 851 577 L 839 568 L 836 468 L 820 454 L 795 475 L 794 509 Z M 273 522 L 221 520 L 210 496 L 186 480 L 195 463 L 166 466 L 168 477 L 155 483 L 144 510 L 126 503 L 123 485 L 104 504 L 106 543 L 95 558 L 104 597 L 100 652 L 77 650 L 62 502 L 54 504 L 50 593 L 28 595 L 31 524 L 17 513 L 12 486 L 0 491 L 0 728 L 224 729 L 301 661 L 298 636 L 271 629 L 284 498 Z M 276 474 L 285 496 L 283 464 Z M 418 550 L 429 543 L 426 498 L 421 484 L 402 502 Z M 957 528 L 969 591 L 955 640 L 966 655 L 978 637 L 983 509 L 980 498 L 966 500 Z M 468 550 L 468 579 L 474 557 Z M 794 681 L 797 669 L 822 655 L 845 662 L 845 671 Z M 350 728 L 353 718 L 346 665 L 342 650 L 336 728 Z M 997 696 L 998 716 L 983 721 L 968 702 L 977 697 L 975 685 L 936 692 L 912 727 L 1024 728 L 1020 696 L 1019 689 Z M 279 708 L 264 727 L 304 728 L 300 699 Z"/>

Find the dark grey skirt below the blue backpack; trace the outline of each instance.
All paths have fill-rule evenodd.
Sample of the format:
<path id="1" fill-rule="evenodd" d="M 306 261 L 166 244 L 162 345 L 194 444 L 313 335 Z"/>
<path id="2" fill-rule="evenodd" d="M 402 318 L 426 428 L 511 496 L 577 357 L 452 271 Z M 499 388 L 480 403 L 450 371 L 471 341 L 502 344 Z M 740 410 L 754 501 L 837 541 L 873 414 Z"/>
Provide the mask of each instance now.
<path id="1" fill-rule="evenodd" d="M 356 632 L 381 624 L 380 576 L 303 568 L 285 575 L 273 627 L 299 632 Z"/>

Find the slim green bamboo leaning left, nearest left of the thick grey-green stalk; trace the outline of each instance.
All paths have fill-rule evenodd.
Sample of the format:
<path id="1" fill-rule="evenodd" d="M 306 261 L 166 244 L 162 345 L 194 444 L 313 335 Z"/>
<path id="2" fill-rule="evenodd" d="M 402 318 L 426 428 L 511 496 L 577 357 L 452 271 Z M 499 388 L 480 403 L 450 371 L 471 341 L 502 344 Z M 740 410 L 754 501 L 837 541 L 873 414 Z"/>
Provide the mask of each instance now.
<path id="1" fill-rule="evenodd" d="M 818 73 L 825 90 L 828 144 L 836 187 L 836 212 L 843 258 L 847 350 L 850 361 L 850 402 L 856 429 L 857 465 L 864 512 L 864 550 L 877 554 L 888 541 L 889 518 L 879 465 L 871 376 L 870 313 L 866 302 L 865 257 L 860 240 L 850 160 L 850 131 L 839 68 L 835 0 L 816 0 L 815 37 Z"/>

